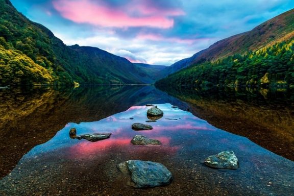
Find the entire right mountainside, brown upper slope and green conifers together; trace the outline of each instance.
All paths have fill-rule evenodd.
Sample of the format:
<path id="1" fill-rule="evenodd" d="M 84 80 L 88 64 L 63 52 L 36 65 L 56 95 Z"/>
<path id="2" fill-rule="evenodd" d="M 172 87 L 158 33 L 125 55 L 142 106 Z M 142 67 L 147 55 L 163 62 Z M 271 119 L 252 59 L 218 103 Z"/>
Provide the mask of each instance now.
<path id="1" fill-rule="evenodd" d="M 294 9 L 214 43 L 157 84 L 294 85 L 293 40 Z"/>

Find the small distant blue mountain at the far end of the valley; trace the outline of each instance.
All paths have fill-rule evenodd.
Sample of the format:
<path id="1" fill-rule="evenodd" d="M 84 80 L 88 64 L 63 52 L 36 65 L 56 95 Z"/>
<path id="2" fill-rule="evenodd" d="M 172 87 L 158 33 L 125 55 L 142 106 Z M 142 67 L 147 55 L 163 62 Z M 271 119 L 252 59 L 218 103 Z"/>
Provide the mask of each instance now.
<path id="1" fill-rule="evenodd" d="M 133 63 L 138 66 L 145 73 L 145 77 L 149 80 L 146 80 L 146 83 L 154 83 L 156 80 L 164 78 L 161 75 L 161 71 L 165 69 L 167 66 L 164 65 L 149 65 L 145 63 Z"/>

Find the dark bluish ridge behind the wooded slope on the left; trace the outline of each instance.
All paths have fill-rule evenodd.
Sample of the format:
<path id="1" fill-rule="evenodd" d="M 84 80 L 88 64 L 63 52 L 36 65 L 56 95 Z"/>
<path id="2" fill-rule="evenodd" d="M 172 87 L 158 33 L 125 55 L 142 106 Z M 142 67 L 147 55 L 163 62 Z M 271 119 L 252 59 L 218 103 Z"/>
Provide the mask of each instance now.
<path id="1" fill-rule="evenodd" d="M 107 84 L 142 84 L 154 82 L 141 67 L 134 65 L 126 58 L 115 56 L 97 47 L 72 45 L 70 49 L 78 53 L 76 62 L 79 63 L 80 72 L 91 71 L 99 83 Z M 83 78 L 86 83 L 91 80 Z"/>

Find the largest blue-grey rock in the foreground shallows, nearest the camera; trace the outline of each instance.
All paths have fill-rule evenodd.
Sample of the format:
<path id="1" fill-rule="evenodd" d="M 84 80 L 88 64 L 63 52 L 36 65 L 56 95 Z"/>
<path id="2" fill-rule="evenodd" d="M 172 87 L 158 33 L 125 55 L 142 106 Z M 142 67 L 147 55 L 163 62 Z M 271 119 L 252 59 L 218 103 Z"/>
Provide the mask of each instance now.
<path id="1" fill-rule="evenodd" d="M 135 188 L 168 185 L 173 180 L 171 172 L 161 163 L 129 160 L 117 167 L 123 174 L 131 177 L 129 185 Z"/>

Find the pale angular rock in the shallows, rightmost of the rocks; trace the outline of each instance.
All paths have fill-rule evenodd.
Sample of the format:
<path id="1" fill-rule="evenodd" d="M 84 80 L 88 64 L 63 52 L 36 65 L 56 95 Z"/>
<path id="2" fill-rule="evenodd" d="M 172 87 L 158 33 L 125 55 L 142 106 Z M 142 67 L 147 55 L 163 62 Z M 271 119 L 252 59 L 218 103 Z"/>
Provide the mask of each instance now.
<path id="1" fill-rule="evenodd" d="M 204 160 L 204 164 L 218 169 L 237 169 L 239 167 L 238 159 L 233 151 L 223 151 L 209 156 Z"/>

